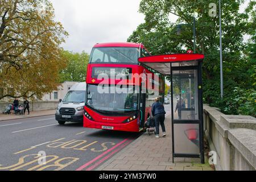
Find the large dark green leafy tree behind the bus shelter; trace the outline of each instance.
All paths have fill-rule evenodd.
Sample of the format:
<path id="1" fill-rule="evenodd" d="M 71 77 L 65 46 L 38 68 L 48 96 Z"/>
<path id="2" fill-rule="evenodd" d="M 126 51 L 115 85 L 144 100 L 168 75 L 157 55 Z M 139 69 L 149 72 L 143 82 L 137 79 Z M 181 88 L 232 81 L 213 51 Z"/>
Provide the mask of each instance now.
<path id="1" fill-rule="evenodd" d="M 185 53 L 193 48 L 193 17 L 196 19 L 196 53 L 205 55 L 203 63 L 204 101 L 225 111 L 228 100 L 234 98 L 236 87 L 254 89 L 255 75 L 247 72 L 255 63 L 249 61 L 244 35 L 255 35 L 255 1 L 251 1 L 244 13 L 240 6 L 244 1 L 222 0 L 222 46 L 225 100 L 220 98 L 220 39 L 219 17 L 209 17 L 212 1 L 142 0 L 140 13 L 145 23 L 127 39 L 143 42 L 153 55 Z M 178 17 L 176 23 L 170 14 Z M 177 34 L 179 32 L 179 34 Z"/>

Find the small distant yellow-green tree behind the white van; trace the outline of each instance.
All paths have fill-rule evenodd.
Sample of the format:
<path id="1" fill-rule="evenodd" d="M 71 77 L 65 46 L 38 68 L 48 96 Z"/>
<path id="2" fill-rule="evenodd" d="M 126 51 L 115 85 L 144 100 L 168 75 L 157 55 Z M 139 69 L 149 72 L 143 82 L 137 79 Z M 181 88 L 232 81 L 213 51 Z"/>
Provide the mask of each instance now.
<path id="1" fill-rule="evenodd" d="M 84 51 L 82 53 L 63 51 L 62 55 L 67 60 L 67 67 L 60 71 L 60 82 L 85 81 L 89 55 Z"/>

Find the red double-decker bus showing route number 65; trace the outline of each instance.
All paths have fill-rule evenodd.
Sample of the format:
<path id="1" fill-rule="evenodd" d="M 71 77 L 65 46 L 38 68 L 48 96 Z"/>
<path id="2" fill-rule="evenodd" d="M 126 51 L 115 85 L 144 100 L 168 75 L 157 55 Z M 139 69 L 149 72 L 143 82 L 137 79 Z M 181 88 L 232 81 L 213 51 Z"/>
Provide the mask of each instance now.
<path id="1" fill-rule="evenodd" d="M 138 63 L 145 56 L 150 53 L 138 43 L 93 47 L 86 77 L 84 127 L 144 130 L 154 98 L 164 100 L 164 77 Z"/>

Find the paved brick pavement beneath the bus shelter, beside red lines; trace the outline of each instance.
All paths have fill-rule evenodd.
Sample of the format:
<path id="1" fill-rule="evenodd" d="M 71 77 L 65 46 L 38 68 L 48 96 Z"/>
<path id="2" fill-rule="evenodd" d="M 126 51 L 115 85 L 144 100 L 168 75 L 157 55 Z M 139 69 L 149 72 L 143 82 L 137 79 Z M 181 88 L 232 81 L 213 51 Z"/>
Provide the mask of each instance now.
<path id="1" fill-rule="evenodd" d="M 205 164 L 195 158 L 175 158 L 173 163 L 170 114 L 166 116 L 165 126 L 167 137 L 161 137 L 161 129 L 159 139 L 144 133 L 96 171 L 214 171 L 207 156 Z"/>

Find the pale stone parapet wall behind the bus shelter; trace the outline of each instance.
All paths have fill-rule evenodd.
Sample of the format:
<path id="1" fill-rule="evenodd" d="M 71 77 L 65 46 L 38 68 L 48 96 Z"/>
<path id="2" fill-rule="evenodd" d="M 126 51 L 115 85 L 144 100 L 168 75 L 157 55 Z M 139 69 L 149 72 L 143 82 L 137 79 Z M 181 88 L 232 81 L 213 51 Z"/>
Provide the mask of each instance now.
<path id="1" fill-rule="evenodd" d="M 256 118 L 204 105 L 204 131 L 210 150 L 217 152 L 216 170 L 256 169 Z"/>

